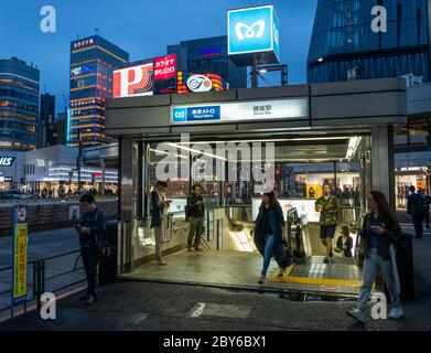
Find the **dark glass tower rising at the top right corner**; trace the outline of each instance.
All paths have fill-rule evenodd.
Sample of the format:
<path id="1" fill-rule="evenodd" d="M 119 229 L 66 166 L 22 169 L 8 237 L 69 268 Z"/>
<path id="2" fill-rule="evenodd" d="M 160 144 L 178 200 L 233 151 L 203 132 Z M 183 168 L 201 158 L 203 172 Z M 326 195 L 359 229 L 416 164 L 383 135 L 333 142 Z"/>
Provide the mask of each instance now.
<path id="1" fill-rule="evenodd" d="M 375 32 L 375 6 L 387 32 Z M 381 25 L 381 24 L 380 24 Z M 319 0 L 308 82 L 419 76 L 430 81 L 428 0 Z"/>

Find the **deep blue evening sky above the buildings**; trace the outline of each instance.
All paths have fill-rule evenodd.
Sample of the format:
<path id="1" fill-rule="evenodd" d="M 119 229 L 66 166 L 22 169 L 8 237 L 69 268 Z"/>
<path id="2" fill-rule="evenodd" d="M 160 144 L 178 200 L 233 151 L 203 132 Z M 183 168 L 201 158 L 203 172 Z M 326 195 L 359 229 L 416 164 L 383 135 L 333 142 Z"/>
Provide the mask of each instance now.
<path id="1" fill-rule="evenodd" d="M 280 19 L 281 62 L 290 83 L 305 83 L 306 56 L 317 0 L 273 0 Z M 68 95 L 69 43 L 99 34 L 131 61 L 165 54 L 168 44 L 227 33 L 226 11 L 265 0 L 1 0 L 0 58 L 18 56 L 41 69 L 41 93 Z M 42 33 L 43 6 L 57 12 L 57 32 Z M 271 84 L 279 77 L 267 76 Z M 262 86 L 267 83 L 262 83 Z M 63 109 L 58 109 L 63 110 Z"/>

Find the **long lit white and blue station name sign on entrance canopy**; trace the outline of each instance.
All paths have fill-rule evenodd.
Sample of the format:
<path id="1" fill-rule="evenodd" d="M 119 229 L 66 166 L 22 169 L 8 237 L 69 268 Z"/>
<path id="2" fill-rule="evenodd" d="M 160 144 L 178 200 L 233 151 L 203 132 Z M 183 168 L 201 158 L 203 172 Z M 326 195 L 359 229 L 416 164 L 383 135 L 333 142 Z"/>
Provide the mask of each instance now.
<path id="1" fill-rule="evenodd" d="M 302 119 L 309 116 L 308 98 L 172 106 L 171 124 L 234 122 Z"/>

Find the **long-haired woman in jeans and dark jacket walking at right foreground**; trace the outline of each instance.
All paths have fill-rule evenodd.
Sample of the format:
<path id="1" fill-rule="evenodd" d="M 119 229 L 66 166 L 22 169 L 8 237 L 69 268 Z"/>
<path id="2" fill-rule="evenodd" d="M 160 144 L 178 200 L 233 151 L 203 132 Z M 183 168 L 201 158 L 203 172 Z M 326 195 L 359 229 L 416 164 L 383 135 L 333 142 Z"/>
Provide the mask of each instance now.
<path id="1" fill-rule="evenodd" d="M 347 314 L 362 323 L 365 322 L 365 307 L 376 276 L 381 270 L 392 303 L 389 318 L 398 320 L 405 313 L 400 302 L 397 264 L 394 263 L 391 253 L 395 252 L 395 246 L 399 242 L 401 228 L 384 193 L 370 192 L 367 196 L 367 203 L 369 213 L 365 216 L 363 227 L 359 231 L 360 250 L 365 256 L 364 280 L 356 308 L 347 310 Z"/>

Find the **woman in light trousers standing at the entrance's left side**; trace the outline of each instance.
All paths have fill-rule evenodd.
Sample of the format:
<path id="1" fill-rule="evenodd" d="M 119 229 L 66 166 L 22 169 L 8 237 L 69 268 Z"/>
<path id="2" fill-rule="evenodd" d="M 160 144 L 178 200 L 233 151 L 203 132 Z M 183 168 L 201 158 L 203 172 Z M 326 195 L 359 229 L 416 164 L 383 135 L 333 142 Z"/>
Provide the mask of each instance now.
<path id="1" fill-rule="evenodd" d="M 151 228 L 154 229 L 155 257 L 160 266 L 166 266 L 162 257 L 164 222 L 170 204 L 170 201 L 165 201 L 166 190 L 168 183 L 159 181 L 151 192 Z"/>

